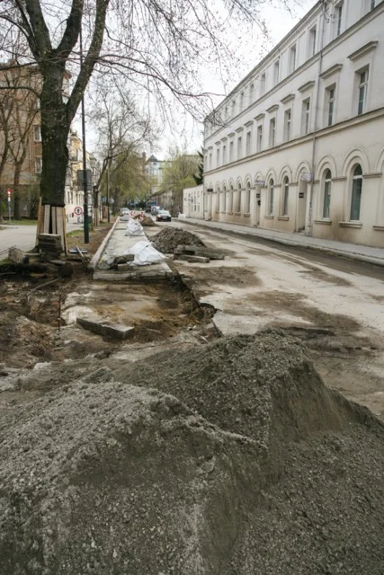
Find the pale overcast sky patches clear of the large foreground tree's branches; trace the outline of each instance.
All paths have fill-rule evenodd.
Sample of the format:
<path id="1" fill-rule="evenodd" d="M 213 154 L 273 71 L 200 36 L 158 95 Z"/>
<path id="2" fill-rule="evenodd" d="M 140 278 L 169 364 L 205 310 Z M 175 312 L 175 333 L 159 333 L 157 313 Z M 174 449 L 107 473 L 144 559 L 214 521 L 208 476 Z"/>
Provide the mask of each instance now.
<path id="1" fill-rule="evenodd" d="M 308 10 L 317 3 L 317 0 L 292 0 L 290 11 L 286 8 L 276 6 L 276 1 L 266 2 L 261 16 L 269 31 L 269 40 L 263 38 L 256 29 L 253 33 L 246 33 L 244 37 L 237 41 L 236 56 L 243 63 L 231 70 L 231 74 L 226 84 L 217 71 L 203 68 L 201 70 L 201 81 L 205 92 L 220 94 L 212 97 L 212 102 L 216 106 L 229 93 L 236 84 L 250 72 L 257 63 L 275 46 L 284 36 L 299 22 Z M 235 38 L 231 40 L 235 41 Z M 156 117 L 156 110 L 153 111 Z M 81 134 L 81 122 L 79 112 L 77 113 L 75 128 Z M 87 149 L 96 152 L 97 137 L 91 126 L 86 128 Z M 178 146 L 179 149 L 188 153 L 195 153 L 202 146 L 202 124 L 196 122 L 184 111 L 174 110 L 173 126 L 164 126 L 163 134 L 153 146 L 147 146 L 147 155 L 154 154 L 158 159 L 165 159 L 170 149 Z"/>

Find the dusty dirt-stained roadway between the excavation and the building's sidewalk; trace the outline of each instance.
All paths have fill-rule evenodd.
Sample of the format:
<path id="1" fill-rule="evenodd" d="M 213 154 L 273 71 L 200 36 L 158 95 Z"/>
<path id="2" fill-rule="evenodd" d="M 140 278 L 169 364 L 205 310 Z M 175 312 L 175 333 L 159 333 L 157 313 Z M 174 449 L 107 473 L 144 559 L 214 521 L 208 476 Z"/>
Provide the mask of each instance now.
<path id="1" fill-rule="evenodd" d="M 168 224 L 169 226 L 169 224 Z M 306 341 L 327 385 L 384 416 L 384 270 L 321 252 L 174 222 L 226 253 L 175 262 L 225 335 L 277 327 Z"/>

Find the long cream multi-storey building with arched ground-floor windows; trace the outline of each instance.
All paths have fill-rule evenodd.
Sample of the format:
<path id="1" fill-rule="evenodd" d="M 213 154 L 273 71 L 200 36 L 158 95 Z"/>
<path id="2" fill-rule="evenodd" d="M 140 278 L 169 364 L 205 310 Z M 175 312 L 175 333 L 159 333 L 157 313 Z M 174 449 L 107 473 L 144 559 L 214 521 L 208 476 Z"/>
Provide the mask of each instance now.
<path id="1" fill-rule="evenodd" d="M 205 122 L 204 217 L 384 245 L 384 2 L 317 2 Z"/>

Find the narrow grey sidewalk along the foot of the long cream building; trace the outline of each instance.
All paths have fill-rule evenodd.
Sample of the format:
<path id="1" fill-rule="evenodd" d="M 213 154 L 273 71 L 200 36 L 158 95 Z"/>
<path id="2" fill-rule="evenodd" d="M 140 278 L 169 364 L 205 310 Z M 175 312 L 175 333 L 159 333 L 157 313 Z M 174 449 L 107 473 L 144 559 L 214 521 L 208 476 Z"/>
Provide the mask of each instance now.
<path id="1" fill-rule="evenodd" d="M 176 220 L 174 220 L 176 221 Z M 304 234 L 284 234 L 276 230 L 267 230 L 258 227 L 238 226 L 237 224 L 226 224 L 225 222 L 212 222 L 192 217 L 180 218 L 180 222 L 201 227 L 207 227 L 218 232 L 233 232 L 235 234 L 260 237 L 263 240 L 292 245 L 318 252 L 334 253 L 357 261 L 366 261 L 384 267 L 384 247 L 371 248 L 368 245 L 358 243 L 334 242 L 333 240 L 321 240 L 317 237 L 308 237 Z"/>

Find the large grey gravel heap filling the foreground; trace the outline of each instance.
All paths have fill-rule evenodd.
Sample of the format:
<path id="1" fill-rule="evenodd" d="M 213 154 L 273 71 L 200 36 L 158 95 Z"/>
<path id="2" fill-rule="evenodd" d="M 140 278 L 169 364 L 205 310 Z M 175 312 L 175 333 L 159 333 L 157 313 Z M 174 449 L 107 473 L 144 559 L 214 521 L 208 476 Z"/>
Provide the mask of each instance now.
<path id="1" fill-rule="evenodd" d="M 280 332 L 8 405 L 0 461 L 2 573 L 384 572 L 384 428 Z"/>

